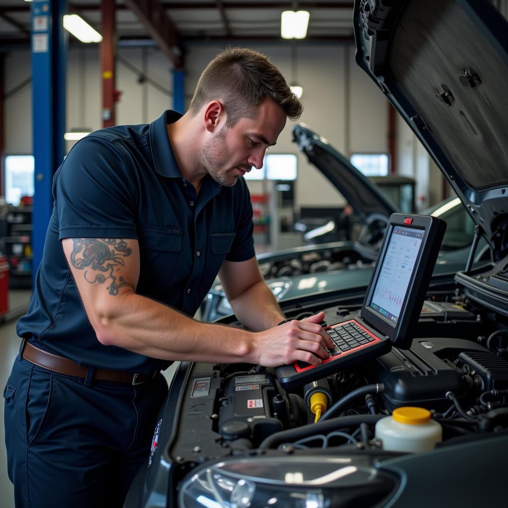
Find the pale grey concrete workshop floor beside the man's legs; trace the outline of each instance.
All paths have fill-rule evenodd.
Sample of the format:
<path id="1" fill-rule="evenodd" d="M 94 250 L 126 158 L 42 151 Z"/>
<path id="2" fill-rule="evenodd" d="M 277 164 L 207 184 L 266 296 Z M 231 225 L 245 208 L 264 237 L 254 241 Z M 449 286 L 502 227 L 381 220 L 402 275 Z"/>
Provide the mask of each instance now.
<path id="1" fill-rule="evenodd" d="M 0 393 L 4 391 L 12 364 L 19 351 L 20 338 L 16 334 L 16 321 L 26 312 L 30 296 L 31 291 L 11 290 L 9 292 L 10 311 L 4 316 L 4 321 L 0 323 L 0 389 L 2 390 Z M 178 362 L 175 362 L 163 372 L 168 385 L 177 365 Z M 14 508 L 13 487 L 7 475 L 3 398 L 0 400 L 0 508 Z"/>

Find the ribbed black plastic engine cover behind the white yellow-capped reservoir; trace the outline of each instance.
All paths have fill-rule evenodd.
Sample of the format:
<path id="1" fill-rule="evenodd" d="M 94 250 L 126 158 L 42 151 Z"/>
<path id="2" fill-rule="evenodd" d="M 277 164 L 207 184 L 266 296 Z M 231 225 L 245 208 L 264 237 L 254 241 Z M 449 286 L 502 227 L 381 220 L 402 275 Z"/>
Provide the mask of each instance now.
<path id="1" fill-rule="evenodd" d="M 457 397 L 466 395 L 465 372 L 454 365 L 464 351 L 488 352 L 481 345 L 463 339 L 415 339 L 408 351 L 396 347 L 374 360 L 378 383 L 385 385 L 383 399 L 388 409 L 416 405 L 441 410 L 450 406 L 448 391 Z"/>

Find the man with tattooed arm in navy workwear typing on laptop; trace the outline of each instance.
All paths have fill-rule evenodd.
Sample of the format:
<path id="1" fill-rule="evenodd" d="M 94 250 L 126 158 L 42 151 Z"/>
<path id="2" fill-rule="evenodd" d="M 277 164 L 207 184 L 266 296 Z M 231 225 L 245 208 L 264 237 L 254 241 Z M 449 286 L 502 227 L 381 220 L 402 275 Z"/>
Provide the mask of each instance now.
<path id="1" fill-rule="evenodd" d="M 175 360 L 319 364 L 322 312 L 284 316 L 260 275 L 245 180 L 302 105 L 269 59 L 227 49 L 189 110 L 77 142 L 4 396 L 16 506 L 121 506 Z M 192 318 L 219 274 L 250 330 Z"/>

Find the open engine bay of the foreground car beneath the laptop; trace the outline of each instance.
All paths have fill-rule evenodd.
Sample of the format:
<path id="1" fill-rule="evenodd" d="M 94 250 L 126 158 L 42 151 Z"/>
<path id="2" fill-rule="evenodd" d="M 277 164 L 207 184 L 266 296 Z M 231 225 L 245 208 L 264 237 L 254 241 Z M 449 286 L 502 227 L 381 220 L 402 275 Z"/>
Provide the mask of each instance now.
<path id="1" fill-rule="evenodd" d="M 359 303 L 324 309 L 331 325 L 354 315 Z M 321 310 L 321 309 L 320 309 Z M 295 308 L 302 319 L 314 306 Z M 181 394 L 178 429 L 168 450 L 178 478 L 209 460 L 228 456 L 384 453 L 377 421 L 404 406 L 430 411 L 446 447 L 508 427 L 508 323 L 506 317 L 463 298 L 459 291 L 430 291 L 418 336 L 409 350 L 283 390 L 272 369 L 250 364 L 196 363 Z M 311 398 L 324 394 L 319 421 Z M 393 452 L 387 452 L 392 456 Z"/>

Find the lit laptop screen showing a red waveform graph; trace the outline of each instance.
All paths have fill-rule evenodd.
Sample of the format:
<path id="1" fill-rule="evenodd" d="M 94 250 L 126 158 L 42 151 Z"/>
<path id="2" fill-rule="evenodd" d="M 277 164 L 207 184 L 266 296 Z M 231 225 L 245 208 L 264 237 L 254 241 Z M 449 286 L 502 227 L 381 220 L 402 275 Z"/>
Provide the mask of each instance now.
<path id="1" fill-rule="evenodd" d="M 370 306 L 397 323 L 411 274 L 422 244 L 423 231 L 396 227 L 379 271 Z"/>

